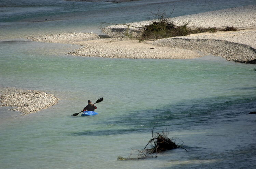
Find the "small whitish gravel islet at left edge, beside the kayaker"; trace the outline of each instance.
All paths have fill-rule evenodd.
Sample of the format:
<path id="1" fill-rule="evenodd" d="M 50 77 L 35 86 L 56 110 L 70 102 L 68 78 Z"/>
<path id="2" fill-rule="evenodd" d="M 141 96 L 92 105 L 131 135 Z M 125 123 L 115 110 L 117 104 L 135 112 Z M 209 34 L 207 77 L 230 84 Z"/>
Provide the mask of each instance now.
<path id="1" fill-rule="evenodd" d="M 36 90 L 20 90 L 15 88 L 1 88 L 0 107 L 15 107 L 13 111 L 19 111 L 23 115 L 46 109 L 57 103 L 59 98 L 52 94 Z"/>

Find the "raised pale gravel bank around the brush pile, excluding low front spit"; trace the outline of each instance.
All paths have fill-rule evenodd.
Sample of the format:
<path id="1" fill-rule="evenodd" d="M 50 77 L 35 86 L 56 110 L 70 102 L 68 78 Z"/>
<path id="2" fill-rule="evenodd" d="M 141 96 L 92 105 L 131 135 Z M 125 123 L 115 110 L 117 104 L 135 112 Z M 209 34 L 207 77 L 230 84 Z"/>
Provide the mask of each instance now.
<path id="1" fill-rule="evenodd" d="M 198 50 L 215 56 L 222 56 L 229 61 L 256 64 L 256 5 L 186 15 L 172 18 L 172 20 L 178 25 L 189 22 L 188 26 L 192 28 L 234 26 L 240 31 L 202 33 L 159 39 L 153 42 L 155 47 Z M 152 21 L 143 21 L 127 23 L 127 25 L 135 26 L 135 28 L 129 27 L 129 29 L 136 30 L 136 27 L 151 23 Z M 102 31 L 110 36 L 118 37 L 125 32 L 127 25 L 111 25 L 103 28 Z"/>

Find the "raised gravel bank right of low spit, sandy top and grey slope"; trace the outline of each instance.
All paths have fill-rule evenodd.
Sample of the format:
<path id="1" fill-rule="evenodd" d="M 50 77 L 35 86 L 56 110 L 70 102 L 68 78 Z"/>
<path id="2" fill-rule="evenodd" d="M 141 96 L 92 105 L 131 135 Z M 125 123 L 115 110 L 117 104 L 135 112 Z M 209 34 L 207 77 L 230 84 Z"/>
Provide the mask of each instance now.
<path id="1" fill-rule="evenodd" d="M 228 61 L 256 64 L 256 30 L 203 33 L 154 41 L 154 46 L 200 50 Z"/>

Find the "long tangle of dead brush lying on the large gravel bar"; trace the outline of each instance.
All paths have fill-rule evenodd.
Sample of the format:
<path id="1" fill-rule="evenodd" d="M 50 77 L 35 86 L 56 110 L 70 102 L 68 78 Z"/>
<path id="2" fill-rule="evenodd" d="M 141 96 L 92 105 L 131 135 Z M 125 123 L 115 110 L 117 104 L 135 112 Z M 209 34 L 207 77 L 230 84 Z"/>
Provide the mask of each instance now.
<path id="1" fill-rule="evenodd" d="M 174 11 L 174 8 L 173 8 Z M 172 13 L 173 13 L 172 11 Z M 217 29 L 216 27 L 188 27 L 189 22 L 181 25 L 175 24 L 171 18 L 171 15 L 167 15 L 166 11 L 154 14 L 154 18 L 146 25 L 132 25 L 131 24 L 114 24 L 115 26 L 108 26 L 101 28 L 101 31 L 112 38 L 129 38 L 143 40 L 155 40 L 168 37 L 186 36 L 189 34 L 197 34 L 203 32 L 217 32 L 217 31 L 238 31 L 235 27 L 226 26 L 223 29 Z M 110 24 L 110 23 L 105 23 Z M 121 26 L 121 27 L 119 27 Z"/>

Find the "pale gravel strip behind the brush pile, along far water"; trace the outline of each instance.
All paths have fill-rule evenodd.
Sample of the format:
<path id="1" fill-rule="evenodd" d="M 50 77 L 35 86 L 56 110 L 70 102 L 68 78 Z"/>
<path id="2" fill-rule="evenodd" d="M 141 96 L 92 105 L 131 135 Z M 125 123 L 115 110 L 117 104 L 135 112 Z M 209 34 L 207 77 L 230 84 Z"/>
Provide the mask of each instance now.
<path id="1" fill-rule="evenodd" d="M 228 8 L 224 10 L 210 11 L 199 14 L 185 15 L 171 18 L 176 25 L 188 23 L 188 27 L 216 27 L 223 28 L 225 26 L 234 27 L 253 27 L 256 26 L 256 5 L 241 6 L 235 8 Z M 102 32 L 111 37 L 120 37 L 126 32 L 128 25 L 129 30 L 138 30 L 136 27 L 144 27 L 155 20 L 132 22 L 126 24 L 117 24 L 104 27 Z"/>

